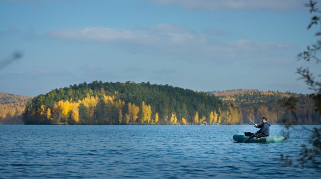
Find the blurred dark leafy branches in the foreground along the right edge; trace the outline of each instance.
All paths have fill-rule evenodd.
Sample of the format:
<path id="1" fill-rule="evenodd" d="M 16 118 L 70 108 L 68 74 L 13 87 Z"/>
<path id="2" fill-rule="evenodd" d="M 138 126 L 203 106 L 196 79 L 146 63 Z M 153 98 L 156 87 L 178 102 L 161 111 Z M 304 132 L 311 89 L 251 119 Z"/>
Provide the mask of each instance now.
<path id="1" fill-rule="evenodd" d="M 317 2 L 310 0 L 309 4 L 305 4 L 306 7 L 310 8 L 310 13 L 321 13 L 321 11 L 316 7 Z M 310 29 L 313 25 L 321 25 L 321 17 L 320 16 L 313 16 L 311 18 L 311 22 L 308 25 L 308 29 Z M 321 31 L 316 33 L 316 36 L 320 36 Z M 321 60 L 318 58 L 317 54 L 321 52 L 321 41 L 317 40 L 317 43 L 312 44 L 307 47 L 306 51 L 303 51 L 297 55 L 298 60 L 305 60 L 309 61 L 316 61 L 318 64 Z M 299 80 L 304 80 L 308 85 L 309 89 L 313 90 L 314 93 L 310 94 L 310 97 L 314 100 L 315 111 L 318 114 L 321 113 L 321 81 L 320 77 L 321 74 L 317 75 L 317 77 L 310 71 L 309 67 L 299 67 L 297 68 L 297 74 L 301 77 Z M 284 101 L 280 101 L 283 106 L 291 111 L 291 113 L 296 117 L 296 108 L 297 108 L 297 100 L 295 98 L 289 98 Z M 285 124 L 285 129 L 288 131 L 287 135 L 290 134 L 289 129 L 292 128 L 295 123 L 289 119 L 283 120 Z M 320 121 L 319 121 L 320 123 Z M 310 133 L 310 139 L 308 145 L 301 145 L 302 149 L 299 153 L 299 158 L 297 161 L 301 165 L 301 167 L 310 165 L 313 167 L 320 167 L 321 164 L 321 128 L 314 127 L 312 130 L 305 128 L 302 126 L 306 131 Z M 294 164 L 294 161 L 290 159 L 290 156 L 284 156 L 281 154 L 281 160 L 284 162 L 284 165 L 297 165 Z"/>

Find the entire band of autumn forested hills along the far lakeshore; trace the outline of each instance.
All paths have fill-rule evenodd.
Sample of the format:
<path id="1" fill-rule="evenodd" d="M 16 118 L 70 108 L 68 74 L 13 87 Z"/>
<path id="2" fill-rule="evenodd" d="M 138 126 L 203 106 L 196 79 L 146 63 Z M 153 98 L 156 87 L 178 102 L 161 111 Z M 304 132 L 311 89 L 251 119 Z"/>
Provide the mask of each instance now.
<path id="1" fill-rule="evenodd" d="M 280 100 L 288 98 L 297 101 L 295 114 L 281 106 Z M 272 124 L 282 123 L 282 119 L 297 124 L 321 123 L 314 101 L 308 95 L 291 92 L 237 89 L 205 93 L 149 82 L 95 81 L 54 89 L 31 99 L 0 92 L 0 124 L 251 123 L 242 112 L 256 123 L 262 116 Z"/>

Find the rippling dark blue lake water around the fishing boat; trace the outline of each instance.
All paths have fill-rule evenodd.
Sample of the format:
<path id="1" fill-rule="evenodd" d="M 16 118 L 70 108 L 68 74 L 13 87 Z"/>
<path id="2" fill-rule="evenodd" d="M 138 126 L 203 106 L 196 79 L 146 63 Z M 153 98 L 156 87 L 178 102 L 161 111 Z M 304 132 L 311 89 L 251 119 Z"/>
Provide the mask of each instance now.
<path id="1" fill-rule="evenodd" d="M 307 143 L 296 128 L 285 142 L 262 144 L 233 141 L 252 125 L 1 125 L 0 178 L 320 178 L 320 168 L 282 166 L 281 153 L 295 159 Z"/>

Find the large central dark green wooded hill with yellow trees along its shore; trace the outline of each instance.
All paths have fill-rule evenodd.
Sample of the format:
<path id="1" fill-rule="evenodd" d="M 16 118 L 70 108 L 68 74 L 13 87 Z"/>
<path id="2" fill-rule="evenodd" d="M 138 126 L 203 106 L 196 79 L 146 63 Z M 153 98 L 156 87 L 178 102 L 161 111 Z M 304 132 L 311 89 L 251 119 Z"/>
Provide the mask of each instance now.
<path id="1" fill-rule="evenodd" d="M 25 124 L 238 123 L 238 108 L 205 92 L 170 85 L 86 82 L 54 89 L 26 107 Z"/>

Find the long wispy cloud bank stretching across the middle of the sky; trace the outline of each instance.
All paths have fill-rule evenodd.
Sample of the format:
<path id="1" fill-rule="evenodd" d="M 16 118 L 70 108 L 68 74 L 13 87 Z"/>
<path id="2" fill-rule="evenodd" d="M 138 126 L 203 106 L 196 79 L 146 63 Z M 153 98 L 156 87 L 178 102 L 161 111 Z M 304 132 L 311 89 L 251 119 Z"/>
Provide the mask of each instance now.
<path id="1" fill-rule="evenodd" d="M 137 27 L 130 30 L 103 27 L 56 30 L 48 32 L 48 35 L 71 41 L 113 43 L 121 48 L 134 48 L 144 53 L 158 53 L 170 56 L 172 59 L 179 57 L 187 61 L 237 57 L 257 58 L 273 53 L 273 51 L 291 49 L 291 46 L 287 44 L 257 43 L 247 39 L 222 43 L 188 27 L 171 24 Z"/>

